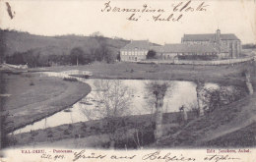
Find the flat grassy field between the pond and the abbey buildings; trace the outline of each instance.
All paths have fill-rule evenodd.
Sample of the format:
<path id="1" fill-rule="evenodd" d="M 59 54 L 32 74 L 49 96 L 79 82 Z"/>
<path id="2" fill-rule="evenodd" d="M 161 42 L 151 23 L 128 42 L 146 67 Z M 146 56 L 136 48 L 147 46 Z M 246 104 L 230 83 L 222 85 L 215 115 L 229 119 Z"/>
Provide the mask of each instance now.
<path id="1" fill-rule="evenodd" d="M 253 65 L 254 66 L 254 65 Z M 93 63 L 85 66 L 48 67 L 32 71 L 85 70 L 93 72 L 93 78 L 99 79 L 140 79 L 172 81 L 211 81 L 222 84 L 243 84 L 242 72 L 251 67 L 249 63 L 234 66 L 192 66 L 167 64 L 136 64 L 119 62 L 115 64 Z"/>

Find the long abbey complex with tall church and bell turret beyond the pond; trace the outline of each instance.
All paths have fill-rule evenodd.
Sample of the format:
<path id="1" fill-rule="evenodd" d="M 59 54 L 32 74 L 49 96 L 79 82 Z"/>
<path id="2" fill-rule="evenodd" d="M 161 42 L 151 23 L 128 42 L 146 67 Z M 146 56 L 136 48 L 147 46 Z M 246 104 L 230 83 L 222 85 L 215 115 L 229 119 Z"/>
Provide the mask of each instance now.
<path id="1" fill-rule="evenodd" d="M 133 40 L 120 49 L 121 61 L 145 60 L 148 52 L 154 50 L 158 59 L 173 60 L 178 56 L 217 56 L 218 59 L 238 58 L 241 41 L 233 33 L 184 34 L 181 43 L 154 45 L 148 40 Z"/>

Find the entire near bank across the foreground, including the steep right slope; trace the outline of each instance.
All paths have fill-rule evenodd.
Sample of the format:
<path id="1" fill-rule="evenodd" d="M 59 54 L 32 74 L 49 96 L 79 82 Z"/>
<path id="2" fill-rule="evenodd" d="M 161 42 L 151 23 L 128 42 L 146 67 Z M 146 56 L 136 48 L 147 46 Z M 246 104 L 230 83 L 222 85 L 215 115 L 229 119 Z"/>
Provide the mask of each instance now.
<path id="1" fill-rule="evenodd" d="M 179 113 L 163 114 L 163 136 L 158 143 L 154 138 L 154 115 L 120 118 L 124 121 L 120 129 L 126 130 L 122 134 L 129 137 L 117 142 L 116 148 L 136 148 L 136 138 L 133 138 L 136 128 L 145 135 L 140 136 L 144 148 L 255 146 L 255 97 L 256 94 L 247 96 L 196 119 L 195 114 L 188 113 L 188 121 L 183 124 L 179 123 Z M 108 148 L 109 142 L 107 130 L 101 127 L 100 120 L 18 134 L 13 139 L 15 147 Z"/>

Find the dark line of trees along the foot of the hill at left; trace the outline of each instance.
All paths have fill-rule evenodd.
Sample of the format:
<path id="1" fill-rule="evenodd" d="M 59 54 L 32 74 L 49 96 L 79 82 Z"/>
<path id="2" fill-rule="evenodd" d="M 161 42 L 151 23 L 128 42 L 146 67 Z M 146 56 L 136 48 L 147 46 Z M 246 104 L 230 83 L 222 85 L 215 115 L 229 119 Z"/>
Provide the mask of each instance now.
<path id="1" fill-rule="evenodd" d="M 30 68 L 49 67 L 54 65 L 86 65 L 94 61 L 104 61 L 113 63 L 120 59 L 112 53 L 106 38 L 95 35 L 98 46 L 91 46 L 85 51 L 82 46 L 74 47 L 68 54 L 42 54 L 41 51 L 31 49 L 26 52 L 15 52 L 11 56 L 5 56 L 4 60 L 8 64 L 28 65 Z"/>

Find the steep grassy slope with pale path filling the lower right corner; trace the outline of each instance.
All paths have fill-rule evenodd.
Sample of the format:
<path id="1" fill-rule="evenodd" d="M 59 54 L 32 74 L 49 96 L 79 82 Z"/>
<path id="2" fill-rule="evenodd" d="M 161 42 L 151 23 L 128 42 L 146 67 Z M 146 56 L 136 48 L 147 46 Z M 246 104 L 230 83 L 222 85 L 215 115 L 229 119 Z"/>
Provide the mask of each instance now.
<path id="1" fill-rule="evenodd" d="M 255 93 L 163 136 L 158 147 L 248 147 L 256 144 Z"/>

